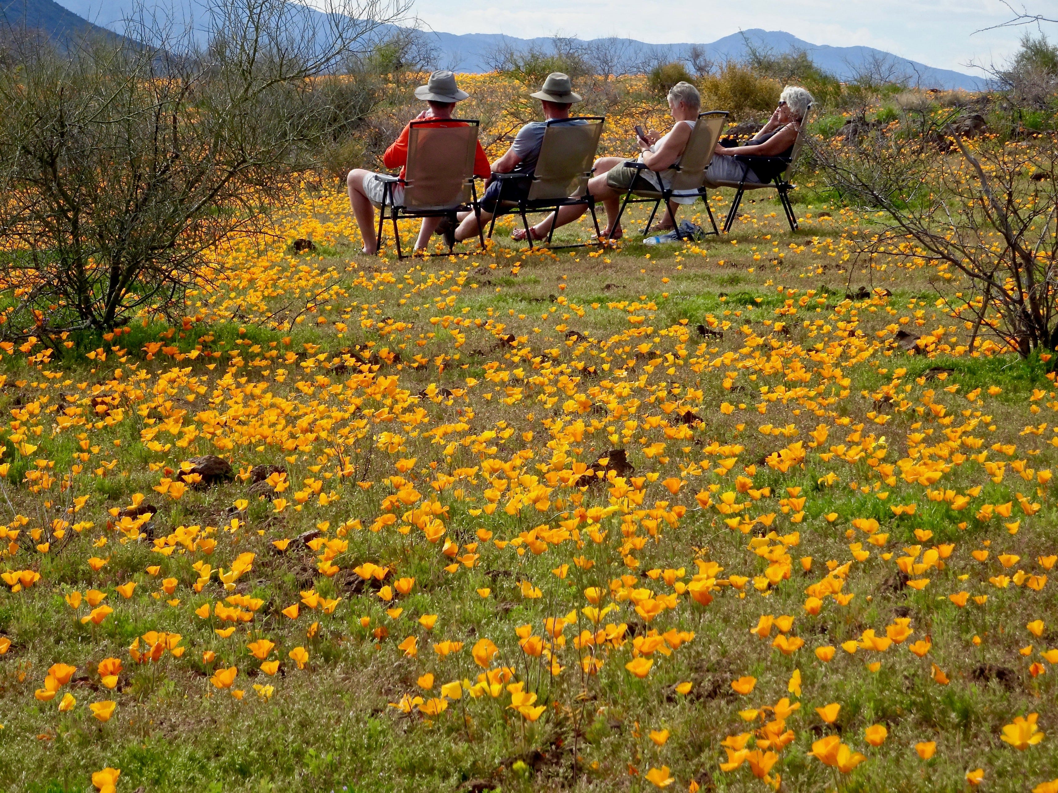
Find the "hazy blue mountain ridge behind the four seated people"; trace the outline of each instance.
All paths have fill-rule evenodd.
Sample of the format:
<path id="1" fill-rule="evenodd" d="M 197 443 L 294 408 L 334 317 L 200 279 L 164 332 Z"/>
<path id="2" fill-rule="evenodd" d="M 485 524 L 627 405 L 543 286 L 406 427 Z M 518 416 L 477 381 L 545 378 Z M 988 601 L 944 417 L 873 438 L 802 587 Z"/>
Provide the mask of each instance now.
<path id="1" fill-rule="evenodd" d="M 522 39 L 500 34 L 471 33 L 456 35 L 452 33 L 430 33 L 430 39 L 441 50 L 440 61 L 454 70 L 464 72 L 485 72 L 489 70 L 488 53 L 501 44 L 517 49 L 537 47 L 548 49 L 551 40 L 548 38 Z M 882 66 L 907 77 L 912 85 L 922 88 L 955 89 L 962 88 L 978 91 L 985 88 L 985 80 L 948 69 L 935 69 L 916 60 L 901 58 L 882 50 L 870 47 L 829 47 L 813 44 L 782 31 L 763 31 L 753 29 L 741 34 L 733 34 L 717 39 L 712 43 L 698 44 L 706 50 L 713 60 L 728 58 L 741 59 L 747 55 L 746 40 L 756 48 L 772 50 L 777 53 L 790 50 L 804 50 L 813 60 L 824 71 L 834 74 L 839 79 L 852 79 L 858 71 Z M 635 39 L 595 39 L 579 41 L 581 44 L 603 44 L 616 49 L 624 60 L 635 62 L 646 60 L 652 55 L 677 58 L 687 53 L 693 43 L 651 44 Z"/>

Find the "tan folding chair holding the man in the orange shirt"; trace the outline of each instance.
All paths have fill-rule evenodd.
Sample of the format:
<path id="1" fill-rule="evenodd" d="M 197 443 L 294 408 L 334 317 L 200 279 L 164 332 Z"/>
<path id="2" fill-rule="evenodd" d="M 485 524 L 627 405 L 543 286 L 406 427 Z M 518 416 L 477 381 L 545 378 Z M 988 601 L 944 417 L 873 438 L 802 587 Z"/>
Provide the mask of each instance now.
<path id="1" fill-rule="evenodd" d="M 441 124 L 459 126 L 440 126 Z M 400 250 L 400 233 L 397 221 L 401 218 L 445 217 L 456 224 L 456 213 L 473 211 L 481 225 L 481 210 L 477 203 L 474 185 L 474 155 L 477 152 L 477 121 L 468 118 L 424 119 L 412 122 L 407 135 L 407 164 L 404 166 L 403 182 L 399 177 L 382 176 L 385 182 L 382 206 L 379 210 L 379 245 L 382 245 L 386 208 L 388 219 L 394 224 L 397 240 L 397 257 L 403 259 Z M 400 204 L 394 202 L 394 186 L 404 187 L 404 198 Z M 478 232 L 481 247 L 485 237 Z M 427 256 L 451 256 L 448 254 L 426 254 Z"/>

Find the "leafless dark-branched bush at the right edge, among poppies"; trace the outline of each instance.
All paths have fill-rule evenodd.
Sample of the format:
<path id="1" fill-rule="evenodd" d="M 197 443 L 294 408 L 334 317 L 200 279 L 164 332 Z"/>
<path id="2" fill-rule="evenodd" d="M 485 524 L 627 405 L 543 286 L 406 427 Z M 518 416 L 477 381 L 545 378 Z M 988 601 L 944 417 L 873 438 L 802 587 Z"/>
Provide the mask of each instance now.
<path id="1" fill-rule="evenodd" d="M 1048 136 L 966 141 L 950 129 L 875 131 L 817 145 L 816 162 L 846 201 L 880 209 L 863 260 L 929 263 L 969 280 L 949 303 L 979 332 L 1027 356 L 1058 347 L 1058 145 Z M 936 144 L 950 145 L 943 154 Z"/>

